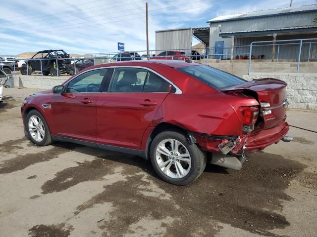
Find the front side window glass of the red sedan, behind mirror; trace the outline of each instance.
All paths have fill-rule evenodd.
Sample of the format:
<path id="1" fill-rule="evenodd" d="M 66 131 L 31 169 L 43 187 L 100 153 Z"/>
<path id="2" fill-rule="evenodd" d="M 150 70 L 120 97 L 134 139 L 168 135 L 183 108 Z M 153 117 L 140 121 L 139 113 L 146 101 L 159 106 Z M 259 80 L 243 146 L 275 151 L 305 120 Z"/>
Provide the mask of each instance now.
<path id="1" fill-rule="evenodd" d="M 101 83 L 107 69 L 97 69 L 83 73 L 69 81 L 67 93 L 100 92 Z"/>

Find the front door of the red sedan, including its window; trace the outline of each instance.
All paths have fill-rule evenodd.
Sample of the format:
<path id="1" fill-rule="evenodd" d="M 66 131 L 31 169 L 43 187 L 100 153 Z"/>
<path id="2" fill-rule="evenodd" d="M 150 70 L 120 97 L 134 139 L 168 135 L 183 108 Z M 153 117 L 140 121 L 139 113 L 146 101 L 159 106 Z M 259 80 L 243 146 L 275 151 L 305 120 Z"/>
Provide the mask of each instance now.
<path id="1" fill-rule="evenodd" d="M 111 69 L 95 69 L 78 75 L 52 99 L 53 135 L 96 142 L 96 101 Z"/>

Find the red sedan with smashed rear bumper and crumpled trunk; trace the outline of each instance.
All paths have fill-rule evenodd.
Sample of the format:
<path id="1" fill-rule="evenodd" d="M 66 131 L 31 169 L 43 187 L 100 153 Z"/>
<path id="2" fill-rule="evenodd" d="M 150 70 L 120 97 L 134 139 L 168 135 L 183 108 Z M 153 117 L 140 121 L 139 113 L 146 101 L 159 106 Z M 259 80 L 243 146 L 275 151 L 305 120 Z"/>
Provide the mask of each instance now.
<path id="1" fill-rule="evenodd" d="M 151 159 L 166 182 L 187 185 L 207 162 L 241 169 L 286 133 L 286 83 L 246 81 L 172 60 L 96 65 L 28 96 L 21 112 L 31 142 L 67 141 Z"/>

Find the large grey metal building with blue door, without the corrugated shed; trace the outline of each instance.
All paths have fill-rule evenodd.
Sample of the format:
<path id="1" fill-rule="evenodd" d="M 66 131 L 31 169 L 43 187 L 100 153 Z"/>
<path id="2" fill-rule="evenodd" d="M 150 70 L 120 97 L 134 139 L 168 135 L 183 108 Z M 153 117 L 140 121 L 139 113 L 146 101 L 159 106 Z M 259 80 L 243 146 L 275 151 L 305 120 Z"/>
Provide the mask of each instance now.
<path id="1" fill-rule="evenodd" d="M 210 45 L 221 54 L 227 47 L 234 46 L 234 53 L 249 53 L 252 41 L 293 40 L 317 38 L 317 4 L 292 6 L 279 9 L 223 15 L 208 21 L 210 23 Z M 316 54 L 317 45 L 311 53 Z M 296 58 L 298 43 L 281 45 L 280 59 Z M 309 44 L 302 48 L 302 58 L 308 56 Z M 254 56 L 272 58 L 272 46 L 256 46 Z M 276 57 L 276 56 L 275 56 Z"/>

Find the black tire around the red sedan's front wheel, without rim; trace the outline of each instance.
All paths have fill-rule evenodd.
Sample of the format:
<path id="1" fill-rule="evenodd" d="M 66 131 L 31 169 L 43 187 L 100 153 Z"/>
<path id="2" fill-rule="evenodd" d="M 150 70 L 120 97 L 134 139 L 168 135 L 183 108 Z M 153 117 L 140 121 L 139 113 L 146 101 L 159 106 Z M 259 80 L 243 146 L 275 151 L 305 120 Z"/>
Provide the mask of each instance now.
<path id="1" fill-rule="evenodd" d="M 31 118 L 31 116 L 37 116 L 38 118 L 40 118 L 43 122 L 43 125 L 44 125 L 44 129 L 45 129 L 45 135 L 44 135 L 44 138 L 42 141 L 38 142 L 36 141 L 31 133 L 30 133 L 30 130 L 29 130 L 29 119 Z M 31 110 L 27 116 L 26 116 L 26 119 L 25 119 L 25 130 L 28 134 L 28 139 L 33 142 L 34 144 L 38 145 L 38 146 L 48 146 L 50 144 L 53 143 L 52 141 L 52 137 L 51 137 L 51 132 L 50 132 L 50 129 L 49 129 L 49 126 L 45 120 L 45 118 L 42 116 L 42 114 L 37 111 L 37 110 Z"/>

